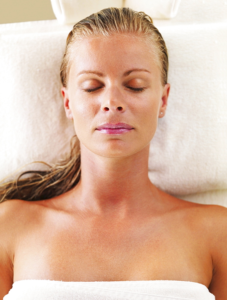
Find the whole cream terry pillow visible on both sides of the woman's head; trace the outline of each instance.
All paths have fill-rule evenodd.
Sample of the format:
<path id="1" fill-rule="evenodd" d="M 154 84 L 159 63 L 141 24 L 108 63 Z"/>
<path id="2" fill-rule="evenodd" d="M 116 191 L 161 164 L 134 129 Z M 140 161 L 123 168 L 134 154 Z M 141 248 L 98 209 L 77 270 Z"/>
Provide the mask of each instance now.
<path id="1" fill-rule="evenodd" d="M 169 52 L 171 88 L 150 144 L 149 178 L 176 196 L 226 189 L 227 25 L 158 29 Z M 69 151 L 74 128 L 60 94 L 69 31 L 0 36 L 0 179 L 32 161 L 57 162 Z"/>

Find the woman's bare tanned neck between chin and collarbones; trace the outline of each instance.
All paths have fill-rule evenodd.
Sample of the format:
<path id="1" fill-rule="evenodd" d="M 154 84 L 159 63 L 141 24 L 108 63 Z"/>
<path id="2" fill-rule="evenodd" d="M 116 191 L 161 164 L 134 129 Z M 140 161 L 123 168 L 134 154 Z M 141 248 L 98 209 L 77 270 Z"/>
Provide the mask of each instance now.
<path id="1" fill-rule="evenodd" d="M 81 179 L 70 190 L 70 198 L 80 211 L 100 216 L 124 218 L 146 211 L 160 197 L 148 177 L 148 157 L 149 145 L 133 155 L 108 158 L 81 144 Z"/>

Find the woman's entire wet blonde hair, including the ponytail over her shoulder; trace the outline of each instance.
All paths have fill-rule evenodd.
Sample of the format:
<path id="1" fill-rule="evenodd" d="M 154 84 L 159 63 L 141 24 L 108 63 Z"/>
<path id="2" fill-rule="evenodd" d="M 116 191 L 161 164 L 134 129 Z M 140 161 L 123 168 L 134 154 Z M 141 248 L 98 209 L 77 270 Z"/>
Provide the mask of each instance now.
<path id="1" fill-rule="evenodd" d="M 73 26 L 67 37 L 66 50 L 61 63 L 62 85 L 67 88 L 76 42 L 86 38 L 111 38 L 116 34 L 130 34 L 139 41 L 145 41 L 155 50 L 154 55 L 161 74 L 161 85 L 164 86 L 167 83 L 168 72 L 168 53 L 165 42 L 158 29 L 153 25 L 150 16 L 128 7 L 102 9 Z M 80 147 L 76 135 L 72 137 L 70 145 L 71 151 L 68 157 L 57 164 L 48 164 L 49 170 L 23 172 L 17 179 L 1 184 L 0 202 L 8 199 L 49 199 L 76 186 L 81 176 Z M 22 175 L 29 173 L 33 173 L 33 175 L 20 179 Z"/>

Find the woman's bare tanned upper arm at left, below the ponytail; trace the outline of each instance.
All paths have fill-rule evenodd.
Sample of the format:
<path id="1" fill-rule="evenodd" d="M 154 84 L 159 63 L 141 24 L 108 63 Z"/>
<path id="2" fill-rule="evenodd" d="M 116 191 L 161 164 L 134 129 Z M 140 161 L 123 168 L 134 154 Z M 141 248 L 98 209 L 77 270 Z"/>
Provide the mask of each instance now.
<path id="1" fill-rule="evenodd" d="M 0 203 L 0 300 L 9 292 L 13 284 L 10 206 L 12 203 L 7 201 Z"/>

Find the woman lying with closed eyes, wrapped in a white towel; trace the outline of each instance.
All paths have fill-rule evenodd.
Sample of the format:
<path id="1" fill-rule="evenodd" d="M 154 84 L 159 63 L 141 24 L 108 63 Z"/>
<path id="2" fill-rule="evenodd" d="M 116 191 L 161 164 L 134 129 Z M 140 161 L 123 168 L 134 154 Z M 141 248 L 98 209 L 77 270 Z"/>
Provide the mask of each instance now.
<path id="1" fill-rule="evenodd" d="M 145 13 L 109 7 L 75 24 L 61 66 L 75 144 L 50 171 L 3 185 L 1 299 L 226 299 L 226 208 L 148 178 L 167 70 Z"/>

